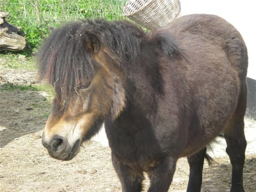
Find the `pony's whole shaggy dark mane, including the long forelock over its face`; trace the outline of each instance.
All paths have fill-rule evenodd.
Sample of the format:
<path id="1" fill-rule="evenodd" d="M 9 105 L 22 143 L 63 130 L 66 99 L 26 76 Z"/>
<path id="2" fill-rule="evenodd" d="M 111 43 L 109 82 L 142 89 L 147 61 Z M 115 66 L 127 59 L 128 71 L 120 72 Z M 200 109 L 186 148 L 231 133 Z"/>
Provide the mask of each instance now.
<path id="1" fill-rule="evenodd" d="M 97 34 L 105 49 L 116 56 L 119 65 L 134 62 L 145 34 L 129 21 L 104 19 L 69 23 L 53 30 L 38 53 L 38 63 L 40 79 L 55 87 L 59 104 L 63 104 L 79 84 L 92 79 L 100 67 L 85 45 L 87 30 Z"/>

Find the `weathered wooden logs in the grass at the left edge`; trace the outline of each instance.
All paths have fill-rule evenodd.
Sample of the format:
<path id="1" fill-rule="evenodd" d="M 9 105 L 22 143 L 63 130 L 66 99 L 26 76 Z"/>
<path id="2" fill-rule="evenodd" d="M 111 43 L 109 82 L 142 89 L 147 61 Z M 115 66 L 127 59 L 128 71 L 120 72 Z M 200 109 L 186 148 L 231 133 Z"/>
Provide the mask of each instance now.
<path id="1" fill-rule="evenodd" d="M 7 12 L 0 12 L 0 52 L 8 51 L 26 51 L 31 47 L 24 37 L 24 33 L 19 27 L 15 27 L 6 21 Z"/>

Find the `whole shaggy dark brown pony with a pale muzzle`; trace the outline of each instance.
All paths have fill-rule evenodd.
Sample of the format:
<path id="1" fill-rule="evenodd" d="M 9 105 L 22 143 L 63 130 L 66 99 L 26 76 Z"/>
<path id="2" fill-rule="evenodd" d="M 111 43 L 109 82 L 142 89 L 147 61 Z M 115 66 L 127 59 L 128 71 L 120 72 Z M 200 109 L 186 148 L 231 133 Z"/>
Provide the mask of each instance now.
<path id="1" fill-rule="evenodd" d="M 42 138 L 53 158 L 72 159 L 105 123 L 124 192 L 142 190 L 143 172 L 149 192 L 168 191 L 184 156 L 187 191 L 199 192 L 205 146 L 224 131 L 231 192 L 244 191 L 248 56 L 224 19 L 186 15 L 151 33 L 128 21 L 70 23 L 38 59 L 56 91 Z"/>

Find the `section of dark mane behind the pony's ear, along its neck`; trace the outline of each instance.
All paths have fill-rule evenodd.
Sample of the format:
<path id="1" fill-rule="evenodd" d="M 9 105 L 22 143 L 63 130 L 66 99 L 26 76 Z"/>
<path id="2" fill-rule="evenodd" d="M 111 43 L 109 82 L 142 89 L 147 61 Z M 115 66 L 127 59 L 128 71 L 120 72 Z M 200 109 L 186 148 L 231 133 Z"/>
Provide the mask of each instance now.
<path id="1" fill-rule="evenodd" d="M 137 25 L 127 21 L 88 20 L 91 31 L 101 37 L 107 49 L 123 60 L 133 63 L 140 53 L 140 43 L 145 32 Z"/>

